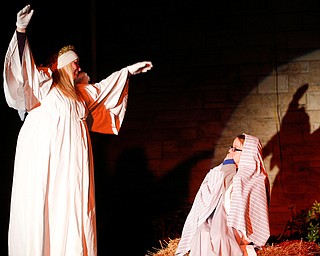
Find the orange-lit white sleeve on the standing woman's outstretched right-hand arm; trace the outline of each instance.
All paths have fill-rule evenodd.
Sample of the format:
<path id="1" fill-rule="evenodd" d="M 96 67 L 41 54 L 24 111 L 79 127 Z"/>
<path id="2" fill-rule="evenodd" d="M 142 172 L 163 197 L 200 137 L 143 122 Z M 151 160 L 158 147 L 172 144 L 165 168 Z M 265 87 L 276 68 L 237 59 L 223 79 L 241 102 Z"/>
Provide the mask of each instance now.
<path id="1" fill-rule="evenodd" d="M 89 109 L 87 123 L 93 132 L 118 134 L 128 100 L 128 70 L 123 68 L 95 84 L 79 84 Z"/>

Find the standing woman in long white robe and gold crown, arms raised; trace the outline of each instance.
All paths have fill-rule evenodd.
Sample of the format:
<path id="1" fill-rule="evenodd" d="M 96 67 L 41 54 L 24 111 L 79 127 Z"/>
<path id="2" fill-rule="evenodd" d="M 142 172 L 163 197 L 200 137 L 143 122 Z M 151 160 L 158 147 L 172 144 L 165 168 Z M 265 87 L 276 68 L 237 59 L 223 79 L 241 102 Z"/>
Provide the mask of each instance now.
<path id="1" fill-rule="evenodd" d="M 24 121 L 14 162 L 9 255 L 95 256 L 89 131 L 119 133 L 127 107 L 128 78 L 147 72 L 152 63 L 138 62 L 89 84 L 86 74 L 78 77 L 81 68 L 75 50 L 64 47 L 56 68 L 40 68 L 26 36 L 33 12 L 30 5 L 18 12 L 3 70 L 7 104 Z"/>

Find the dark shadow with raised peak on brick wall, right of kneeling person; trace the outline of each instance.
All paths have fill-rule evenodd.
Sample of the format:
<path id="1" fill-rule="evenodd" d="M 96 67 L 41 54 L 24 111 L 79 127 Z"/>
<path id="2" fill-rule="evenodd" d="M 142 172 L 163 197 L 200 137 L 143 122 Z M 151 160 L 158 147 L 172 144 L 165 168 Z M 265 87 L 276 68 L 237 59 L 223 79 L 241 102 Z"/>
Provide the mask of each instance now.
<path id="1" fill-rule="evenodd" d="M 314 167 L 320 166 L 320 129 L 311 133 L 309 115 L 299 106 L 307 89 L 305 84 L 296 91 L 279 132 L 263 148 L 264 158 L 271 155 L 269 177 L 275 177 L 270 204 L 271 234 L 275 235 L 285 232 L 293 214 L 310 207 L 318 196 L 320 173 Z M 279 173 L 272 173 L 274 167 Z"/>

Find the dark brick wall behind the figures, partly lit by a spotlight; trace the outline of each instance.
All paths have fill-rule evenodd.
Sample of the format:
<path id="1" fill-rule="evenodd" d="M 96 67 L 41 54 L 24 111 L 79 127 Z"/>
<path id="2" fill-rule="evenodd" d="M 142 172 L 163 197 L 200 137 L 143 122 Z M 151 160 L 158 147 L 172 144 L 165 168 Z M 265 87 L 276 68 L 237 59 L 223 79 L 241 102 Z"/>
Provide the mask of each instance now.
<path id="1" fill-rule="evenodd" d="M 205 174 L 242 132 L 264 146 L 272 235 L 320 200 L 318 0 L 91 1 L 76 14 L 68 6 L 63 11 L 76 20 L 74 31 L 40 22 L 47 8 L 36 6 L 29 34 L 36 58 L 51 44 L 75 42 L 80 64 L 97 80 L 135 61 L 154 64 L 131 79 L 120 134 L 92 134 L 101 255 L 121 248 L 122 236 L 133 255 L 178 236 Z M 46 40 L 39 36 L 44 27 Z M 5 236 L 21 123 L 1 104 L 9 131 L 1 149 Z"/>

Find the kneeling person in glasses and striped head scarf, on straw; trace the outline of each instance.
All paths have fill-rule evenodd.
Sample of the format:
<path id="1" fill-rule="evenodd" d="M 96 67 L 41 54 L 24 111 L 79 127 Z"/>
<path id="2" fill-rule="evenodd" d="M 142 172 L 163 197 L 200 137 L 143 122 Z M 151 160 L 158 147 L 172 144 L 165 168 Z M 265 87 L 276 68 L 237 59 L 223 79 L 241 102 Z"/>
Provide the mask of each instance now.
<path id="1" fill-rule="evenodd" d="M 205 176 L 175 255 L 257 255 L 270 236 L 269 194 L 261 142 L 243 133 Z"/>

